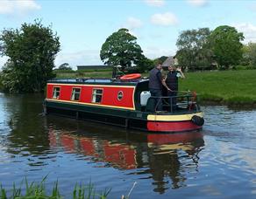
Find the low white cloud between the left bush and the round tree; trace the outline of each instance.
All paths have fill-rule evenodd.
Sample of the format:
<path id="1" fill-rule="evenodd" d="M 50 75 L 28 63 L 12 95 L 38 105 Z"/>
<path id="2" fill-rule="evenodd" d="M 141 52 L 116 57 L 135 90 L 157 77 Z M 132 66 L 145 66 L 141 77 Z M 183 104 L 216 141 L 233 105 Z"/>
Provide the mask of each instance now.
<path id="1" fill-rule="evenodd" d="M 100 52 L 98 50 L 83 50 L 74 52 L 60 51 L 55 59 L 55 65 L 58 67 L 63 63 L 68 63 L 75 70 L 77 69 L 76 65 L 103 65 L 99 54 Z"/>

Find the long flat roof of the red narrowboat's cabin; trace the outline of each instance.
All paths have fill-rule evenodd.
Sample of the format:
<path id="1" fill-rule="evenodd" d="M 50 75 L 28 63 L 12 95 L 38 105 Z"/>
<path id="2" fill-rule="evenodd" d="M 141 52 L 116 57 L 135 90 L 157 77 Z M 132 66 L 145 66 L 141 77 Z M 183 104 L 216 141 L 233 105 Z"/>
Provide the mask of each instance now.
<path id="1" fill-rule="evenodd" d="M 124 86 L 136 86 L 141 82 L 148 81 L 148 79 L 106 79 L 106 78 L 89 78 L 89 79 L 50 79 L 47 83 L 55 84 L 84 84 L 84 85 L 124 85 Z"/>

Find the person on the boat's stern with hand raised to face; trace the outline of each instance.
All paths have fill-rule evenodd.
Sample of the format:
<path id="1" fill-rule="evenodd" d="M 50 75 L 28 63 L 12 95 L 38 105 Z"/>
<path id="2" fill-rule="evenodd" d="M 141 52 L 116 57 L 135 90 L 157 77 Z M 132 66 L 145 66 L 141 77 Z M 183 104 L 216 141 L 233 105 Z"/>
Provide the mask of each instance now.
<path id="1" fill-rule="evenodd" d="M 171 110 L 177 109 L 177 93 L 178 93 L 178 79 L 182 78 L 185 79 L 185 75 L 181 71 L 181 67 L 175 67 L 174 65 L 168 66 L 168 73 L 165 78 L 165 83 L 167 84 L 167 87 L 169 90 L 167 91 L 168 97 L 170 97 L 169 104 L 171 106 Z"/>

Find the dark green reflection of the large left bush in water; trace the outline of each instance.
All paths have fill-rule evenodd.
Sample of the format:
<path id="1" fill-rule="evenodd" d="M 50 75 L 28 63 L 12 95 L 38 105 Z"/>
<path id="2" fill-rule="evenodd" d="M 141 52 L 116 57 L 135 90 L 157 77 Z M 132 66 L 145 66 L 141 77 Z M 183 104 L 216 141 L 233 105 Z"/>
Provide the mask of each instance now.
<path id="1" fill-rule="evenodd" d="M 10 127 L 6 145 L 8 153 L 11 154 L 44 154 L 49 148 L 47 134 L 42 125 L 44 121 L 42 115 L 43 95 L 25 94 L 8 95 L 5 94 L 4 111 L 9 117 L 5 123 Z"/>

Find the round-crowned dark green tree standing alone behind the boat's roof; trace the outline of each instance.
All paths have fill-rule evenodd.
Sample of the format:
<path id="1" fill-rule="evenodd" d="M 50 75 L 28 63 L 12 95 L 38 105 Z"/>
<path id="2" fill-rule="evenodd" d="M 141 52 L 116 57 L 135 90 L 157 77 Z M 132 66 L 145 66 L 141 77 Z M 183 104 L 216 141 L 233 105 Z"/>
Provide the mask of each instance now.
<path id="1" fill-rule="evenodd" d="M 136 42 L 136 37 L 127 29 L 119 29 L 106 39 L 102 45 L 100 57 L 104 64 L 121 65 L 125 67 L 137 64 L 142 56 L 142 50 Z"/>

